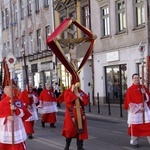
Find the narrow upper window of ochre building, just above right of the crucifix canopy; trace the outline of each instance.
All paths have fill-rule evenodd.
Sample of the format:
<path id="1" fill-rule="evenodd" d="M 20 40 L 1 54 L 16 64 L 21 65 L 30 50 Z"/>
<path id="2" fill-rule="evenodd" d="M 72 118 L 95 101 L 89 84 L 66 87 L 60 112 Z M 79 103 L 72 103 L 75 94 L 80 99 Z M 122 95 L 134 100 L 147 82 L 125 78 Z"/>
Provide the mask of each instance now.
<path id="1" fill-rule="evenodd" d="M 89 6 L 85 6 L 82 8 L 83 14 L 83 25 L 89 28 Z"/>

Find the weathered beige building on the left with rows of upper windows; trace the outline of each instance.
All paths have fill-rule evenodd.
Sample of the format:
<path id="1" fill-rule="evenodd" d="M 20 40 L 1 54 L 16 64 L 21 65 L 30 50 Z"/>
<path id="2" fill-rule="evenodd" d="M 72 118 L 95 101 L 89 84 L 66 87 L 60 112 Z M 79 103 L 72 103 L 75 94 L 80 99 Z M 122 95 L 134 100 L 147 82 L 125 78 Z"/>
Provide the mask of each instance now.
<path id="1" fill-rule="evenodd" d="M 54 30 L 52 1 L 1 0 L 0 9 L 2 53 L 4 57 L 13 52 L 17 58 L 14 78 L 19 88 L 25 87 L 26 74 L 34 86 L 52 84 L 57 80 L 52 73 L 55 71 L 54 56 L 46 44 L 48 35 Z"/>

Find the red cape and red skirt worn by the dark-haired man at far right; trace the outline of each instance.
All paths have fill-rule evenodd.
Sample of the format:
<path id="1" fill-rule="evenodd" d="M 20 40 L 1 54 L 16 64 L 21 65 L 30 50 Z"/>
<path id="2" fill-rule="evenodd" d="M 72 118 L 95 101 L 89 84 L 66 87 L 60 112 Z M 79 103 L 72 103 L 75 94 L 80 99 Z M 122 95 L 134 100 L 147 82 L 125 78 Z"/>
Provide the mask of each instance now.
<path id="1" fill-rule="evenodd" d="M 131 103 L 138 105 L 143 103 L 142 93 L 140 91 L 141 88 L 142 85 L 135 85 L 135 84 L 132 84 L 132 86 L 128 88 L 124 101 L 124 109 L 130 110 L 129 105 Z M 149 95 L 148 90 L 146 88 L 145 90 L 146 93 Z M 147 102 L 147 105 L 149 106 L 149 102 Z M 132 118 L 130 120 L 132 120 Z M 128 128 L 128 134 L 132 136 L 150 136 L 150 122 L 130 124 Z"/>

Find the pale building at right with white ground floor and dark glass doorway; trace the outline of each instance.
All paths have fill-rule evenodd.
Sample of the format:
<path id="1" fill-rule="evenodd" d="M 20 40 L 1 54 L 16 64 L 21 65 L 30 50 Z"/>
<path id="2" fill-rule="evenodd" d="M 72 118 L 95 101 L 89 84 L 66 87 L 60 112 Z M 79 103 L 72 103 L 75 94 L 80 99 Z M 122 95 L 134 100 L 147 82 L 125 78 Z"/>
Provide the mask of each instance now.
<path id="1" fill-rule="evenodd" d="M 94 48 L 94 95 L 101 102 L 122 103 L 132 74 L 147 78 L 146 58 L 149 56 L 149 1 L 92 0 L 92 31 L 97 33 Z M 143 56 L 139 44 L 145 47 Z M 142 59 L 143 60 L 143 59 Z"/>

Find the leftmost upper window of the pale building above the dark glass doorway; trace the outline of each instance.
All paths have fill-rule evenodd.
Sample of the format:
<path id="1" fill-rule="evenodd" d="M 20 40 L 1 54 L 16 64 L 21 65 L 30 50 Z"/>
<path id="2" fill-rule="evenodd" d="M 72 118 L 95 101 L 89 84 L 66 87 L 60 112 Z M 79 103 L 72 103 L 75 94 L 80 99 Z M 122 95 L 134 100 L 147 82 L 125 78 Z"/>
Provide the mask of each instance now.
<path id="1" fill-rule="evenodd" d="M 110 35 L 110 24 L 109 24 L 109 8 L 108 5 L 101 8 L 102 13 L 102 35 Z"/>

